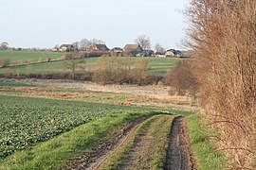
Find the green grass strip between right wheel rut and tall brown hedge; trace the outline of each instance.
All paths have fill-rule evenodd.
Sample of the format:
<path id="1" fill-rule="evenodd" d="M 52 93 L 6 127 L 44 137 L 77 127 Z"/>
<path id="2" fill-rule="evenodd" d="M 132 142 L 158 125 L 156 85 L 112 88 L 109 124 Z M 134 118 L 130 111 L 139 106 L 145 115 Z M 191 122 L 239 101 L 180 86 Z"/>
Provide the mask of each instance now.
<path id="1" fill-rule="evenodd" d="M 225 169 L 226 158 L 222 153 L 216 150 L 213 141 L 210 141 L 209 136 L 212 135 L 212 132 L 200 124 L 198 114 L 188 116 L 188 120 L 192 140 L 192 151 L 196 157 L 199 169 Z"/>

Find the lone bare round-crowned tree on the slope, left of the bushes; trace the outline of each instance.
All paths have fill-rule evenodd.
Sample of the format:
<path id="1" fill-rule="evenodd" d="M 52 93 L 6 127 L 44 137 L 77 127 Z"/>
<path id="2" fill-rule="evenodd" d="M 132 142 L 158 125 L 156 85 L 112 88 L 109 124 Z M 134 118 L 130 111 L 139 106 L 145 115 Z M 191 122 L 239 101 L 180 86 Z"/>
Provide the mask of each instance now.
<path id="1" fill-rule="evenodd" d="M 64 68 L 70 70 L 72 77 L 75 79 L 76 73 L 85 70 L 85 60 L 82 58 L 82 53 L 71 52 L 64 55 Z"/>

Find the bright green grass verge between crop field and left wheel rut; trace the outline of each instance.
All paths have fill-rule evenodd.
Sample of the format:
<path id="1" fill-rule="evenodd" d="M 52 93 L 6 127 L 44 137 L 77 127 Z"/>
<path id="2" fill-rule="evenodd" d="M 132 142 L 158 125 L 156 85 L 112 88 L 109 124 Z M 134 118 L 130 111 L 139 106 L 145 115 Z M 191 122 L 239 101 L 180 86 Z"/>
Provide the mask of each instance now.
<path id="1" fill-rule="evenodd" d="M 91 121 L 31 149 L 14 153 L 0 161 L 0 169 L 62 169 L 68 161 L 108 140 L 120 125 L 142 115 L 145 113 L 119 113 Z"/>

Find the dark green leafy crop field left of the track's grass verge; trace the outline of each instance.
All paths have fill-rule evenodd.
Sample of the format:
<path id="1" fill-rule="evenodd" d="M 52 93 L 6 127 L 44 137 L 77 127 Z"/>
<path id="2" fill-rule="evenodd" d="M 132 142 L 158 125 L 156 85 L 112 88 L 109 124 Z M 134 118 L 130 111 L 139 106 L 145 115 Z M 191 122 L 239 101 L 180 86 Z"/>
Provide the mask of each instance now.
<path id="1" fill-rule="evenodd" d="M 0 108 L 0 159 L 100 117 L 142 110 L 8 95 L 0 95 Z"/>

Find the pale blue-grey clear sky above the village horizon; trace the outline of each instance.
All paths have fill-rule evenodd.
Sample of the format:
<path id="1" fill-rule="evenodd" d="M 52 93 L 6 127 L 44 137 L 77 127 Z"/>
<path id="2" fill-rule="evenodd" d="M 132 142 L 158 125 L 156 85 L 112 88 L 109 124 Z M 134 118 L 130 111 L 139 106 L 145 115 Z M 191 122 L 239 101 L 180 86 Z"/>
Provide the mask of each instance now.
<path id="1" fill-rule="evenodd" d="M 0 42 L 53 47 L 83 38 L 123 47 L 137 36 L 166 48 L 185 35 L 187 0 L 0 0 Z"/>

